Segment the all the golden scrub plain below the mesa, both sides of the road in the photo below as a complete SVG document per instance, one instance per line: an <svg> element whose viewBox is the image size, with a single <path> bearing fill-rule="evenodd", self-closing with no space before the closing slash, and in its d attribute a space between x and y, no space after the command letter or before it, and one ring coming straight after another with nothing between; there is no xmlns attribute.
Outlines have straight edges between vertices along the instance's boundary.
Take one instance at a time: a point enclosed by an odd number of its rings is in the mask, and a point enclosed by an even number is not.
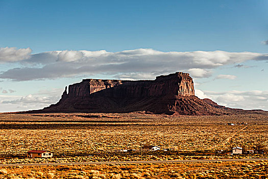
<svg viewBox="0 0 268 179"><path fill-rule="evenodd" d="M225 125L227 123L238 125ZM242 123L247 125L239 125ZM266 158L265 152L232 156L217 151L228 152L234 146L248 150L261 146L267 151L267 131L266 115L1 114L0 164ZM141 145L157 145L175 151L143 152L141 159ZM55 156L26 158L26 152L34 149L50 150ZM120 149L137 151L113 152ZM23 171L25 176L22 177L29 178L52 175L54 178L92 178L93 175L96 175L94 178L216 178L227 175L265 178L267 162L2 167L0 170L4 178L20 177L19 171Z"/></svg>

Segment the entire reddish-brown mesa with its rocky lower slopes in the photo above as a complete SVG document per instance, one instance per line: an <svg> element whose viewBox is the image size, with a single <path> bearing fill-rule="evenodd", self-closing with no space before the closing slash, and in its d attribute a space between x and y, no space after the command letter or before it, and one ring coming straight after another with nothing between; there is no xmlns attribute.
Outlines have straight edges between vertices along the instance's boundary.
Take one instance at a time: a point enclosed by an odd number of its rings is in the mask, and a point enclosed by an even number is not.
<svg viewBox="0 0 268 179"><path fill-rule="evenodd" d="M239 109L241 110L241 109ZM209 99L194 96L192 78L177 72L155 80L84 79L69 85L57 104L34 113L128 113L148 111L155 114L226 115L231 110ZM244 111L244 110L242 110Z"/></svg>

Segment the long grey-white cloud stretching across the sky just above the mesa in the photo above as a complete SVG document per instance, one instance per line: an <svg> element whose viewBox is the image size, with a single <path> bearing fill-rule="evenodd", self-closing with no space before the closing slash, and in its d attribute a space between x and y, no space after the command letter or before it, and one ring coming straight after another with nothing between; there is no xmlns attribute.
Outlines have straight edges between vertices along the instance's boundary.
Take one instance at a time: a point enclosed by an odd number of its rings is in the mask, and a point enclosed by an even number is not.
<svg viewBox="0 0 268 179"><path fill-rule="evenodd" d="M268 55L252 52L161 52L153 49L51 51L31 55L29 59L20 61L19 68L0 73L0 78L27 81L105 75L153 79L157 75L179 71L188 71L192 77L200 78L209 77L218 66L267 59Z"/></svg>

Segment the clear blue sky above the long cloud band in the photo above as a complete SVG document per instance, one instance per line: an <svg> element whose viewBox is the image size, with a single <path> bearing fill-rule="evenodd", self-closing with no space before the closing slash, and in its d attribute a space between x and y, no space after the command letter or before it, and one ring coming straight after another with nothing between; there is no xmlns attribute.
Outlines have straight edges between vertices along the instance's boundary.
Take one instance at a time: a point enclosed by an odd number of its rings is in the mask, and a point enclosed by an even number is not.
<svg viewBox="0 0 268 179"><path fill-rule="evenodd" d="M265 53L267 1L1 1L1 47Z"/></svg>

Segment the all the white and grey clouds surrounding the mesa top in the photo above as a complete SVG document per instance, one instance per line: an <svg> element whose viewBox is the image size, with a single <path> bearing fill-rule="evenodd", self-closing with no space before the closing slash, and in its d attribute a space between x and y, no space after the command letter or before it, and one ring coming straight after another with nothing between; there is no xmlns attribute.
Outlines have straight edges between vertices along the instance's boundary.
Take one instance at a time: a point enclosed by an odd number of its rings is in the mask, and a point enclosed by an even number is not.
<svg viewBox="0 0 268 179"><path fill-rule="evenodd" d="M30 48L0 48L0 71L3 81L31 81L104 75L114 79L154 79L158 75L178 71L188 72L193 78L207 78L214 70L225 65L233 68L254 68L241 64L248 60L268 61L268 54L252 52L195 51L161 52L153 49L135 49L121 52L101 51L50 51L31 54ZM12 65L9 65L12 63ZM10 66L16 68L10 68ZM9 67L9 69L7 68ZM264 71L264 69L263 69ZM235 79L220 74L214 79ZM196 83L197 85L197 83ZM17 90L17 89L16 89ZM56 103L63 89L38 92L26 96L12 96L13 89L0 87L0 108L4 111L40 109ZM53 94L52 94L53 93ZM267 108L267 91L228 91L215 93L196 89L200 98L210 98L221 105L244 109Z"/></svg>

